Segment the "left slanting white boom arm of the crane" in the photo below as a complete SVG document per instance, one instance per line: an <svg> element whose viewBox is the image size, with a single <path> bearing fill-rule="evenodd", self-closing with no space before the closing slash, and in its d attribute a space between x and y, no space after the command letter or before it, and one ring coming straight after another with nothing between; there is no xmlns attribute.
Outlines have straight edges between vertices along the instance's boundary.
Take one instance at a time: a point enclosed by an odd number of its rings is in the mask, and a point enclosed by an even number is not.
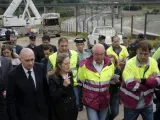
<svg viewBox="0 0 160 120"><path fill-rule="evenodd" d="M14 12L17 10L18 6L21 4L22 0L13 0L3 16L11 17L13 16Z"/></svg>

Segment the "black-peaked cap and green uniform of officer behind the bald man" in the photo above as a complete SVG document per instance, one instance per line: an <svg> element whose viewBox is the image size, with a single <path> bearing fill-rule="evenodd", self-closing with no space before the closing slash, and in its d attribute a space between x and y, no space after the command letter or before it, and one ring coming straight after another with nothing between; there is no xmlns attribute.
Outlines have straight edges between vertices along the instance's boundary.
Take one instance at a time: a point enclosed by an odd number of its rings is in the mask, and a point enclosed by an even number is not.
<svg viewBox="0 0 160 120"><path fill-rule="evenodd" d="M86 42L86 40L84 38L76 38L74 42L78 44L78 43L84 43ZM78 53L79 62L91 56L91 50L89 49L84 49L83 52L80 52L79 50L77 50L77 53ZM81 85L79 85L78 91L79 91L79 106L78 107L79 107L79 111L82 111L83 103L82 103L82 86Z"/></svg>

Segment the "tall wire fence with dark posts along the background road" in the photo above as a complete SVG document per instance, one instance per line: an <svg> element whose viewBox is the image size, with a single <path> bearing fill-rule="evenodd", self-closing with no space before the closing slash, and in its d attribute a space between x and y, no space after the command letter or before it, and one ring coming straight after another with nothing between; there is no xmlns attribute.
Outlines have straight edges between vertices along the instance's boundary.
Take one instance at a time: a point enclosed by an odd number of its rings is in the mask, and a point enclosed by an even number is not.
<svg viewBox="0 0 160 120"><path fill-rule="evenodd" d="M132 8L133 9L133 8ZM59 6L52 11L61 14L61 31L67 35L90 33L97 26L112 26L117 34L143 33L159 36L159 14L143 9L131 11L120 6Z"/></svg>

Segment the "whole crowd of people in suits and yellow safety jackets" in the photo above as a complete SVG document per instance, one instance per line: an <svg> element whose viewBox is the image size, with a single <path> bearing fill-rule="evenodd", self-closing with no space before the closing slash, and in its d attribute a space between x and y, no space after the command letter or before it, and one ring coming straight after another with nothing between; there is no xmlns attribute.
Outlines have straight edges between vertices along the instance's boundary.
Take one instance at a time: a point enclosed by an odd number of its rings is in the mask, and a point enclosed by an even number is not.
<svg viewBox="0 0 160 120"><path fill-rule="evenodd" d="M85 48L85 39L74 40L77 50L60 38L50 44L44 35L36 46L1 46L0 120L77 120L84 107L88 120L114 120L124 105L124 120L158 120L160 114L160 48L151 56L144 36L128 47L118 36L112 45L100 35L99 43ZM153 102L156 111L153 113Z"/></svg>

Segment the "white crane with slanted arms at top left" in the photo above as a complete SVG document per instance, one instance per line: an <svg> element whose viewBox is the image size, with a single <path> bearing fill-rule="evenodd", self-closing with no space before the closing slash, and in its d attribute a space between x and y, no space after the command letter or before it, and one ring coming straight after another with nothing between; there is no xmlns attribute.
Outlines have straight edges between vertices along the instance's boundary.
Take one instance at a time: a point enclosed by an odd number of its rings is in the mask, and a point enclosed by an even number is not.
<svg viewBox="0 0 160 120"><path fill-rule="evenodd" d="M22 27L26 25L40 25L41 15L32 0L24 0L25 9L22 15L14 16L15 11L23 0L13 0L3 15L0 16L0 25L3 27ZM35 17L31 17L29 8Z"/></svg>

